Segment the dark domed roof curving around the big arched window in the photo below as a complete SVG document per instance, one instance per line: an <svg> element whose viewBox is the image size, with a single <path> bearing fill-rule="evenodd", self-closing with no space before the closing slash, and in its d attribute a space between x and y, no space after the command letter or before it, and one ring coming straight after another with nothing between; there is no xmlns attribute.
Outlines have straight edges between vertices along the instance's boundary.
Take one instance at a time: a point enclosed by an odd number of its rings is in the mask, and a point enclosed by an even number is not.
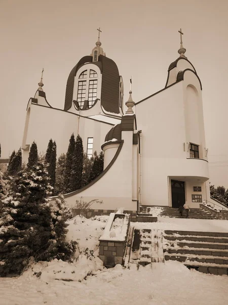
<svg viewBox="0 0 228 305"><path fill-rule="evenodd" d="M74 77L77 74L79 68L86 63L91 63L100 68L102 73L101 83L101 105L104 110L112 113L120 113L119 109L119 90L120 90L120 75L119 70L115 62L112 59L100 55L98 62L93 62L92 56L84 56L81 58L77 65L71 70L67 83L66 83L66 95L64 110L70 109L73 100L73 84Z"/></svg>

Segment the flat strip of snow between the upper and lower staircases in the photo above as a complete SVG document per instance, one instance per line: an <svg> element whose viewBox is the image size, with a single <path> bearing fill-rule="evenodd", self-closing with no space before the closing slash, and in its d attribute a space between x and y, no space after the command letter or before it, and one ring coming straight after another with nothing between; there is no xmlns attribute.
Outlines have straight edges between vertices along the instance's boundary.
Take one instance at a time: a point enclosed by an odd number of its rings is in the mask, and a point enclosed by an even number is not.
<svg viewBox="0 0 228 305"><path fill-rule="evenodd" d="M136 229L228 232L228 220L158 217L155 223L131 223Z"/></svg>

